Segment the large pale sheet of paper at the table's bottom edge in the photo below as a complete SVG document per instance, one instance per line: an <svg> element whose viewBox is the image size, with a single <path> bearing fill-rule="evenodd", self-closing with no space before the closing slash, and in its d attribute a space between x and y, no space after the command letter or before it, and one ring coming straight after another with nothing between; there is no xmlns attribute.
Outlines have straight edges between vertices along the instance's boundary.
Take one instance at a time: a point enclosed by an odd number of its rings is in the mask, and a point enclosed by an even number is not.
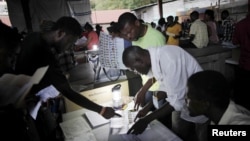
<svg viewBox="0 0 250 141"><path fill-rule="evenodd" d="M83 117L77 117L60 123L66 140L96 141L89 124Z"/></svg>

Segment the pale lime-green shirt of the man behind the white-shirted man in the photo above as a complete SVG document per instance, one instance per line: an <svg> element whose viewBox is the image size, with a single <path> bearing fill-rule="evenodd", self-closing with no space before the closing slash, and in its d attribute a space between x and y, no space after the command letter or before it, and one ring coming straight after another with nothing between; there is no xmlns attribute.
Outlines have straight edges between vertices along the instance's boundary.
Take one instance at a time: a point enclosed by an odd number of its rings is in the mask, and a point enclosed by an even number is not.
<svg viewBox="0 0 250 141"><path fill-rule="evenodd" d="M148 26L148 29L147 29L146 34L143 37L139 38L137 41L133 41L132 45L137 45L144 49L147 49L149 47L159 47L159 46L165 45L166 39L163 36L163 34L160 31L152 28L151 25L148 24L147 26ZM141 77L142 77L143 84L145 84L149 79L146 75L141 75ZM155 82L154 85L149 88L149 90L157 91L158 88L159 88L159 84L158 82Z"/></svg>

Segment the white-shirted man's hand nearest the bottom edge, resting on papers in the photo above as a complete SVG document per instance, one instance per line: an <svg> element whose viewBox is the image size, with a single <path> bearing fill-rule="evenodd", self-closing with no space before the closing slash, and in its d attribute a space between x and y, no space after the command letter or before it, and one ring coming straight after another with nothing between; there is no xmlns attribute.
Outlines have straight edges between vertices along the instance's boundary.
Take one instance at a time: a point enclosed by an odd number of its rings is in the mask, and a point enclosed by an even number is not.
<svg viewBox="0 0 250 141"><path fill-rule="evenodd" d="M148 122L145 118L139 119L127 132L127 134L141 134L147 128Z"/></svg>

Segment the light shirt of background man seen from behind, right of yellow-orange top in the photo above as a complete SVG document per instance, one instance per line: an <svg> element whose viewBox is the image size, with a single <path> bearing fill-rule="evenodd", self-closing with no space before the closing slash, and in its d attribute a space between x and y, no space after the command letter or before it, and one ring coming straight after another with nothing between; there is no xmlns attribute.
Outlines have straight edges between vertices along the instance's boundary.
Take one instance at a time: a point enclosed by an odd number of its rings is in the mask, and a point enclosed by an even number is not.
<svg viewBox="0 0 250 141"><path fill-rule="evenodd" d="M209 39L207 25L200 19L195 20L191 24L189 34L194 35L192 43L195 44L197 48L203 48L208 45Z"/></svg>

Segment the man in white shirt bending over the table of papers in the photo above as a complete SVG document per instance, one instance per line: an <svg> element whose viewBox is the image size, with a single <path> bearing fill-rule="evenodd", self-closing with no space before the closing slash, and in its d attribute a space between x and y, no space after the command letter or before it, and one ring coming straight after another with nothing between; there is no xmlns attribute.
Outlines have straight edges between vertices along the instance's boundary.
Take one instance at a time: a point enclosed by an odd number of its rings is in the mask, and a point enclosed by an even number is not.
<svg viewBox="0 0 250 141"><path fill-rule="evenodd" d="M172 130L183 140L196 140L190 138L190 135L194 135L193 122L204 123L207 118L190 117L185 108L187 79L193 73L202 71L195 58L182 48L173 45L148 49L131 46L123 52L123 63L133 71L155 77L160 84L158 93L167 94L167 102L159 109L144 117L139 112L136 118L140 119L129 129L128 133L140 134L148 123L173 112Z"/></svg>

